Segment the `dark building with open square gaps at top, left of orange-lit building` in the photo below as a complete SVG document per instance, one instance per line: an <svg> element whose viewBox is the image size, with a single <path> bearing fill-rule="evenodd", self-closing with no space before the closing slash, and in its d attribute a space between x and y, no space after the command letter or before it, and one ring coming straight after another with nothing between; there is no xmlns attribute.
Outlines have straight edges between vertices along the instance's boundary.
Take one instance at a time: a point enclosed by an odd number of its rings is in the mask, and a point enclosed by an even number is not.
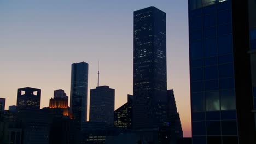
<svg viewBox="0 0 256 144"><path fill-rule="evenodd" d="M40 109L41 89L25 87L19 88L17 94L16 109L36 110Z"/></svg>

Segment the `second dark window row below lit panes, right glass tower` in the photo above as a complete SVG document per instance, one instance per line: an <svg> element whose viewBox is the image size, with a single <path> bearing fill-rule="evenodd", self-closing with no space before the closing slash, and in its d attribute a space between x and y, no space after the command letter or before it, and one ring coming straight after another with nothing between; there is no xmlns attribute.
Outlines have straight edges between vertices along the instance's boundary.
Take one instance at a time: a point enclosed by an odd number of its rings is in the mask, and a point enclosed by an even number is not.
<svg viewBox="0 0 256 144"><path fill-rule="evenodd" d="M237 135L236 121L212 121L212 122L193 122L192 134L194 135Z"/></svg>

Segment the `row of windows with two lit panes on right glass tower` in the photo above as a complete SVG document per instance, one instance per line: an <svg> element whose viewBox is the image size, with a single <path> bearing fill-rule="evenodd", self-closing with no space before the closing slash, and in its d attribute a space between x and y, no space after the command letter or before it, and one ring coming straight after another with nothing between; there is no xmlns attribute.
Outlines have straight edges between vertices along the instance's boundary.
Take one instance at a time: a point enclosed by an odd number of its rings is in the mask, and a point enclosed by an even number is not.
<svg viewBox="0 0 256 144"><path fill-rule="evenodd" d="M191 109L193 112L235 110L235 91L234 89L227 89L191 93Z"/></svg>

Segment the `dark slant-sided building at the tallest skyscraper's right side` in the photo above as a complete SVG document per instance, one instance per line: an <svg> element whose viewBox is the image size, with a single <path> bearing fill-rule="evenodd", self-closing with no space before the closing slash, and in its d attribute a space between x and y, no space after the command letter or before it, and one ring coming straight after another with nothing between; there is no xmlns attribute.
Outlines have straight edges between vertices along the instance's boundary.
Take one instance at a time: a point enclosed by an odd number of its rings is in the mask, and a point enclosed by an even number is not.
<svg viewBox="0 0 256 144"><path fill-rule="evenodd" d="M174 98L173 89L167 90L167 122L171 129L174 130L176 137L183 137L181 118L177 112L176 101Z"/></svg>

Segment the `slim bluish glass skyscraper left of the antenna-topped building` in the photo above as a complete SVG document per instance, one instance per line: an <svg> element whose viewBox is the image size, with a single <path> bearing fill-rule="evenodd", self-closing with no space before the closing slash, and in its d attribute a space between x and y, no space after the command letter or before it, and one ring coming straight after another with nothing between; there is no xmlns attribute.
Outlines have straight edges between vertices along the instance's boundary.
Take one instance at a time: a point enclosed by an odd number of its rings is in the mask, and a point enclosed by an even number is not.
<svg viewBox="0 0 256 144"><path fill-rule="evenodd" d="M73 63L71 71L70 106L77 127L87 119L88 63Z"/></svg>

